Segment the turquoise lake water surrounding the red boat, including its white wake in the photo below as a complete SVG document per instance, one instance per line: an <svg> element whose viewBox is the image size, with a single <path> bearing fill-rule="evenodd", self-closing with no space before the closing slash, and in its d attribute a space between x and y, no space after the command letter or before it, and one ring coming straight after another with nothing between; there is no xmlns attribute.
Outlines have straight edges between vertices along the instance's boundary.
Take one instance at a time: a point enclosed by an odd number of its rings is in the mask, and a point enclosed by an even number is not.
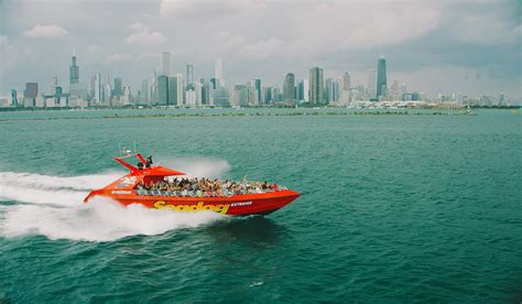
<svg viewBox="0 0 522 304"><path fill-rule="evenodd" d="M520 113L95 119L144 112L0 113L0 302L522 300ZM302 196L250 218L81 204L132 141Z"/></svg>

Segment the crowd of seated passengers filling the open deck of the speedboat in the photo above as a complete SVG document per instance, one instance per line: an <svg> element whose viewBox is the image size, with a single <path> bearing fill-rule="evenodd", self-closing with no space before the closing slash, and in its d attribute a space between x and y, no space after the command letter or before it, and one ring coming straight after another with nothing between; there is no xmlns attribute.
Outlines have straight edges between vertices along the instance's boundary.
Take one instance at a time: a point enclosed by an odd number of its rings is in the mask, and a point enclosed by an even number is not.
<svg viewBox="0 0 522 304"><path fill-rule="evenodd" d="M196 197L222 197L237 194L267 193L281 189L278 184L269 182L247 181L233 182L229 180L208 180L208 178L175 178L173 181L164 180L140 183L137 187L139 195L160 195L160 196L196 196Z"/></svg>

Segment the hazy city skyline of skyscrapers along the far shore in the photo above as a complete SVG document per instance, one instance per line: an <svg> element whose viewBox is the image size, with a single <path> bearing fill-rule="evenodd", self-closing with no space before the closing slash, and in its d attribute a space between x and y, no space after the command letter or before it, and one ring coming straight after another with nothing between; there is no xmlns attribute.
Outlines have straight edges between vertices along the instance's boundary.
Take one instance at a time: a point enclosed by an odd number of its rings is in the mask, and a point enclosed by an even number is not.
<svg viewBox="0 0 522 304"><path fill-rule="evenodd" d="M186 74L171 73L171 53L160 55L160 70L155 69L152 79L143 79L134 93L121 77L111 78L110 73L96 73L90 83L81 83L77 57L70 58L68 90L65 83L59 83L53 75L48 89L39 87L37 83L25 83L25 88L10 91L10 98L0 98L2 106L8 107L121 107L121 106L350 106L368 107L366 102L382 101L380 106L406 106L414 101L416 107L433 107L433 102L445 102L444 107L461 106L516 106L519 98L511 98L503 93L497 95L468 96L459 93L443 94L433 98L415 88L407 88L405 83L396 79L388 85L387 59L380 56L377 70L368 70L368 84L354 85L346 72L342 77L326 77L322 67L312 67L309 78L296 78L286 73L282 84L263 85L259 78L238 83L231 88L225 86L224 64L221 58L215 61L215 77L200 77L194 80L194 67L186 65ZM172 75L172 76L171 76ZM328 75L327 75L328 76ZM398 101L404 101L396 104ZM362 102L362 104L361 104ZM392 102L392 104L390 104ZM428 102L429 105L427 105ZM409 104L413 106L413 104Z"/></svg>

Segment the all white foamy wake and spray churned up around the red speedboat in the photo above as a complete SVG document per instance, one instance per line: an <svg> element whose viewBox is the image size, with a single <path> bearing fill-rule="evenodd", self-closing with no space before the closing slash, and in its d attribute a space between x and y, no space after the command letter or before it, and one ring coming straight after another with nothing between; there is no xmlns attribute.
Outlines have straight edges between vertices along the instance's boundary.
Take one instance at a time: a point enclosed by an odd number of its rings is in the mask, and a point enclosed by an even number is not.
<svg viewBox="0 0 522 304"><path fill-rule="evenodd" d="M228 163L205 160L187 163L196 176L219 176ZM199 170L198 170L199 169ZM123 172L70 177L0 172L0 237L42 235L48 239L113 241L135 235L160 235L224 219L208 213L176 213L143 207L123 207L108 198L83 199L91 188L102 187Z"/></svg>

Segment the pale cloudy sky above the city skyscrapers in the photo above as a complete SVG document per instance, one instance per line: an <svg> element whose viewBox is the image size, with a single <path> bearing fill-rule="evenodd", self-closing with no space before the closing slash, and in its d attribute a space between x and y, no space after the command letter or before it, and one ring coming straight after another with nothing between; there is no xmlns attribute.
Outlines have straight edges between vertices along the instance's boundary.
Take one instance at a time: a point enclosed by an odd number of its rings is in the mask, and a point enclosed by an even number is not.
<svg viewBox="0 0 522 304"><path fill-rule="evenodd" d="M389 85L520 97L521 19L520 0L0 0L0 95L48 90L53 75L68 87L73 51L80 82L100 72L135 90L171 51L174 72L205 78L221 57L228 84L322 66L366 86L384 55Z"/></svg>

